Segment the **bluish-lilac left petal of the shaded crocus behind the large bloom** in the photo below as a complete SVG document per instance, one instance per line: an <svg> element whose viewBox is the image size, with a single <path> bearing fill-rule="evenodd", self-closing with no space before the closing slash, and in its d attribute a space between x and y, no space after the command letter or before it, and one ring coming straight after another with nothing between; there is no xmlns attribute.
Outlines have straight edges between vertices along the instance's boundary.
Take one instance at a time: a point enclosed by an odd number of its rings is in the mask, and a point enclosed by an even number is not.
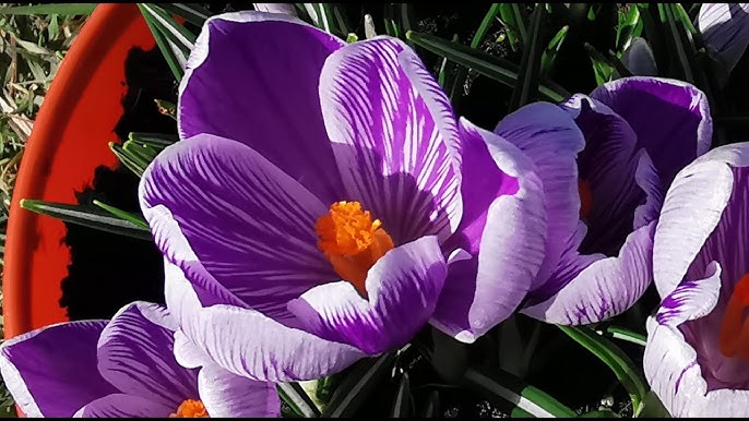
<svg viewBox="0 0 749 421"><path fill-rule="evenodd" d="M548 103L531 104L504 117L495 133L531 158L544 184L548 215L546 257L534 281L535 287L549 277L578 226L576 158L585 146L585 139L563 109Z"/></svg>

